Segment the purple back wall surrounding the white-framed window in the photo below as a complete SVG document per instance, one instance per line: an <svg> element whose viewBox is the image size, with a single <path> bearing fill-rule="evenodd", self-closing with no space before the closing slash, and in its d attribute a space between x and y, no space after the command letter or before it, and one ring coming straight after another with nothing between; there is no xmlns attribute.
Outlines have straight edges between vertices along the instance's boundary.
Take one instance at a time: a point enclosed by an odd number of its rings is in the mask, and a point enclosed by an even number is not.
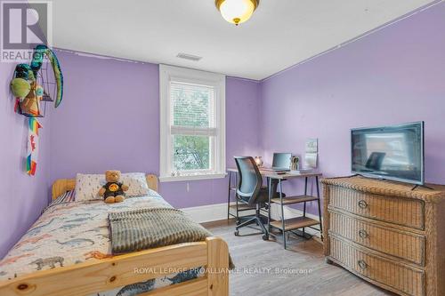
<svg viewBox="0 0 445 296"><path fill-rule="evenodd" d="M57 55L66 83L64 108L52 115L51 180L114 168L158 173L158 65L68 51ZM232 156L258 150L258 91L255 81L227 79L228 165ZM186 182L166 182L160 193L182 208L223 203L226 187L224 179L190 181L187 192Z"/></svg>

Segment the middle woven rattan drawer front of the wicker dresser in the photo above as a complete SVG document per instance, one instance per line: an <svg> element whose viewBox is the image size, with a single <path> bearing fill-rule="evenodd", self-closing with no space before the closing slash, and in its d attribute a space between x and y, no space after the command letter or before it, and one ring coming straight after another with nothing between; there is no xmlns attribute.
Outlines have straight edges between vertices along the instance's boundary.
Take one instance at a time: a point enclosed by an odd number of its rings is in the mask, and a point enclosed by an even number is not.
<svg viewBox="0 0 445 296"><path fill-rule="evenodd" d="M354 243L378 252L425 265L425 236L373 223L329 211L329 232L344 236Z"/></svg>

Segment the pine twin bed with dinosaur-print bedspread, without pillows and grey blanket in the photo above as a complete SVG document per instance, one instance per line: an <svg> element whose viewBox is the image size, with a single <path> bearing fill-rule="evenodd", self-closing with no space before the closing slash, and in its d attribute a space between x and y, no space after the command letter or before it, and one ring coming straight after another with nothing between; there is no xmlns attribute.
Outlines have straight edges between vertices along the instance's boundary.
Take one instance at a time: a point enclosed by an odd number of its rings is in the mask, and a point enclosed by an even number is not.
<svg viewBox="0 0 445 296"><path fill-rule="evenodd" d="M62 202L49 206L0 261L0 295L217 295L229 294L227 244L206 240L112 255L109 212L171 208L147 175L146 196L124 203ZM56 180L53 199L76 180Z"/></svg>

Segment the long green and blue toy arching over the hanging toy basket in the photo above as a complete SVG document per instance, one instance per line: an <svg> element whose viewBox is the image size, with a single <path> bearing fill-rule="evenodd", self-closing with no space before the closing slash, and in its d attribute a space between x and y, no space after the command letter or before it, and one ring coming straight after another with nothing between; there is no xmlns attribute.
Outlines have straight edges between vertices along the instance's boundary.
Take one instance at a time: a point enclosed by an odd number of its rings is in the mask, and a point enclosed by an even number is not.
<svg viewBox="0 0 445 296"><path fill-rule="evenodd" d="M61 64L59 63L59 60L57 60L54 52L44 44L37 45L34 49L31 69L34 76L37 76L37 72L42 68L44 55L50 60L51 66L53 67L54 77L57 84L57 95L54 106L57 108L61 104L63 97L63 75L61 74Z"/></svg>

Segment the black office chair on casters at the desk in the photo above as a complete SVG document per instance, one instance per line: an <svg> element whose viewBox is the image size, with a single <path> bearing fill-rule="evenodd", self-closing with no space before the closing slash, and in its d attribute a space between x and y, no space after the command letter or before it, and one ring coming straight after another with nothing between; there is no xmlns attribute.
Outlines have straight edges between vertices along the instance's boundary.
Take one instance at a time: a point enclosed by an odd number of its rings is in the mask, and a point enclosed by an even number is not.
<svg viewBox="0 0 445 296"><path fill-rule="evenodd" d="M261 176L258 167L255 164L255 160L250 156L235 156L235 163L238 168L238 185L237 185L237 198L239 202L248 204L250 206L255 205L255 215L243 217L246 221L237 225L235 230L235 236L239 236L239 228L243 228L247 225L255 223L260 226L263 232L263 239L268 239L268 231L263 225L261 220L260 210L269 206L269 195L267 188L263 188L263 178Z"/></svg>

